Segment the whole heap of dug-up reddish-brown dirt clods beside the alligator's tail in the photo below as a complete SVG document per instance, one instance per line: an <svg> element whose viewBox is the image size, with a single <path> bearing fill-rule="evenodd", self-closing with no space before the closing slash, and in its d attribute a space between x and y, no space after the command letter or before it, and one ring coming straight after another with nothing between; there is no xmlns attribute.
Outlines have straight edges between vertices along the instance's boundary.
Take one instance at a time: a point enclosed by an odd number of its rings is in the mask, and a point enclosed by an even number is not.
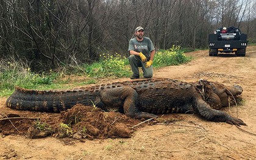
<svg viewBox="0 0 256 160"><path fill-rule="evenodd" d="M51 135L75 139L106 139L131 137L137 128L133 126L141 122L121 113L106 113L100 108L81 104L61 114L41 113L37 118L26 117L25 113L2 115L0 132L5 135L23 134L30 138Z"/></svg>

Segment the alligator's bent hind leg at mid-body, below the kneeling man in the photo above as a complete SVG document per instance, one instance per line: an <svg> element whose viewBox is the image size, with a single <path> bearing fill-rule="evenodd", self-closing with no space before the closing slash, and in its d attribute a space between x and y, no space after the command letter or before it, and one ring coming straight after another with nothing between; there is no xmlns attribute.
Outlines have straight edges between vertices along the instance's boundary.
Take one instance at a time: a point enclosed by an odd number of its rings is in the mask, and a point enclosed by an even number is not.
<svg viewBox="0 0 256 160"><path fill-rule="evenodd" d="M144 113L138 110L138 93L130 86L121 86L101 91L101 101L108 108L122 107L124 114L135 119L157 118L155 114Z"/></svg>

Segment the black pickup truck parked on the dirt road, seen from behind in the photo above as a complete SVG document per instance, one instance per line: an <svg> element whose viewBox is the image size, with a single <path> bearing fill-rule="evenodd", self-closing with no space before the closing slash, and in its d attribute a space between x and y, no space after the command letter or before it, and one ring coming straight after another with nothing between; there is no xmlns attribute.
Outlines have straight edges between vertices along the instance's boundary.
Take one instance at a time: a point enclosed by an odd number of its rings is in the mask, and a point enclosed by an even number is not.
<svg viewBox="0 0 256 160"><path fill-rule="evenodd" d="M226 32L223 32L226 30ZM236 56L245 56L247 47L247 35L241 33L236 27L221 27L215 30L215 33L209 35L209 55L217 56L218 52L233 53Z"/></svg>

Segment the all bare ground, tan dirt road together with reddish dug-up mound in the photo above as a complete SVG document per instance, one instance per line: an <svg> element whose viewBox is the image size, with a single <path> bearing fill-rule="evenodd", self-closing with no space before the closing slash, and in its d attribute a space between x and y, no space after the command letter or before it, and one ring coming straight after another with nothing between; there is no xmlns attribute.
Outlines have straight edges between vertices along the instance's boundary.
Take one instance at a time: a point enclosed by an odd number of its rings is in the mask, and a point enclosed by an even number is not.
<svg viewBox="0 0 256 160"><path fill-rule="evenodd" d="M243 104L222 110L247 126L208 122L193 114L166 114L164 123L140 124L82 105L61 114L16 111L5 107L5 97L0 99L0 118L20 119L0 120L0 159L256 159L255 50L247 47L246 57L191 52L195 59L190 63L154 73L184 82L207 79L242 86Z"/></svg>

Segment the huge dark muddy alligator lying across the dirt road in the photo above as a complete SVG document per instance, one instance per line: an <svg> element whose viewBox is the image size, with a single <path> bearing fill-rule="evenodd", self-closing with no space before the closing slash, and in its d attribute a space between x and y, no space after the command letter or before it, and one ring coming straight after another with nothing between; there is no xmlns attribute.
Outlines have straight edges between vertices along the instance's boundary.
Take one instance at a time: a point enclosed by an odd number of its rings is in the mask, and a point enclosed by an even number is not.
<svg viewBox="0 0 256 160"><path fill-rule="evenodd" d="M152 78L65 91L16 87L6 105L16 110L60 112L82 103L104 111L116 110L136 119L157 118L157 114L196 113L210 121L246 125L243 120L219 110L235 102L242 92L241 86L225 86L207 80L187 83L169 78Z"/></svg>

